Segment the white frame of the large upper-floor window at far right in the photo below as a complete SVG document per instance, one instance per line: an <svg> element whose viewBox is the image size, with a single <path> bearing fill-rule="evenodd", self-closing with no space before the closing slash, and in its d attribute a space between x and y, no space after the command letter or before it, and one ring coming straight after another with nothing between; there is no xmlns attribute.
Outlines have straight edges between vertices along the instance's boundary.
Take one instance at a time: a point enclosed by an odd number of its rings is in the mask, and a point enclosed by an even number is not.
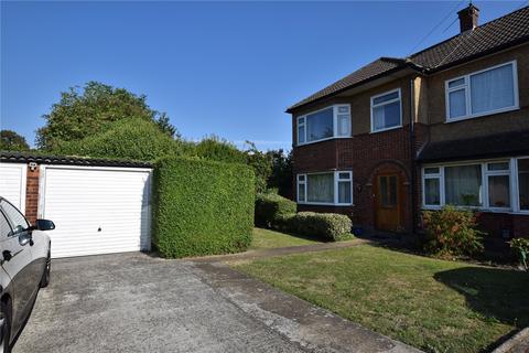
<svg viewBox="0 0 529 353"><path fill-rule="evenodd" d="M504 108L499 108L499 109L494 109L494 110L473 114L472 113L472 100L471 100L471 97L472 97L471 76L474 76L474 75L477 75L477 74L490 71L490 69L495 69L495 68L498 68L498 67L501 67L501 66L507 66L507 65L512 65L512 85L514 85L512 88L514 88L514 94L515 94L515 97L514 97L515 98L515 104L510 107L504 107ZM457 81L457 79L461 79L461 78L464 79L464 84L462 86L449 88L449 84L451 82L454 82L454 81ZM450 117L450 93L452 93L454 90L460 90L460 89L465 90L466 114L464 116L461 116L461 117L451 118ZM445 114L446 115L446 121L445 122L454 122L454 121L460 121L460 120L484 117L484 116L488 116L488 115L493 115L493 114L517 110L517 109L519 109L517 61L514 60L514 61L510 61L510 62L507 62L507 63L490 66L490 67L487 67L487 68L484 68L484 69L481 69L481 71L476 71L476 72L473 72L473 73L469 73L469 74L466 74L466 75L463 75L463 76L458 76L458 77L447 79L447 81L444 82L444 97L445 97L445 113L446 113Z"/></svg>

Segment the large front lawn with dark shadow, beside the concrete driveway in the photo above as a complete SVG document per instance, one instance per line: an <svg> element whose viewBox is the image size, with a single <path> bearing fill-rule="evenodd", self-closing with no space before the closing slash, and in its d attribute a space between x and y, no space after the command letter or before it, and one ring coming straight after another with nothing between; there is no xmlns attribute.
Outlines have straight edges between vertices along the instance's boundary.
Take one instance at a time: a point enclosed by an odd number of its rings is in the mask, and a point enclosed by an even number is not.
<svg viewBox="0 0 529 353"><path fill-rule="evenodd" d="M529 325L529 274L369 245L234 265L427 352L487 352Z"/></svg>

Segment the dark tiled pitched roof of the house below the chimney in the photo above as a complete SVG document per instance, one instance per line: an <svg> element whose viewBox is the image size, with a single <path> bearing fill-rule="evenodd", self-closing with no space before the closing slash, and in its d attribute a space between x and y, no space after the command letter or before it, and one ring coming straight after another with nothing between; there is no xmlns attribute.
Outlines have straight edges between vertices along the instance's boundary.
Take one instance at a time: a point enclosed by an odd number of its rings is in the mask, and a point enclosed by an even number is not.
<svg viewBox="0 0 529 353"><path fill-rule="evenodd" d="M529 42L529 7L460 33L407 58L380 57L287 109L337 94L403 67L433 73L452 65Z"/></svg>

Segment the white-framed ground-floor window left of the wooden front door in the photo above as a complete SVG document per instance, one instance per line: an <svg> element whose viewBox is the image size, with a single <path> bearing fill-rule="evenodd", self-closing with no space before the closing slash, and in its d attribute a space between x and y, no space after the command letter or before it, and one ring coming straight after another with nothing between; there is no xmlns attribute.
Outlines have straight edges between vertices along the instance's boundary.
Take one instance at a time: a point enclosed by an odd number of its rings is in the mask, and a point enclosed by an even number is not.
<svg viewBox="0 0 529 353"><path fill-rule="evenodd" d="M353 172L298 174L298 203L353 204Z"/></svg>

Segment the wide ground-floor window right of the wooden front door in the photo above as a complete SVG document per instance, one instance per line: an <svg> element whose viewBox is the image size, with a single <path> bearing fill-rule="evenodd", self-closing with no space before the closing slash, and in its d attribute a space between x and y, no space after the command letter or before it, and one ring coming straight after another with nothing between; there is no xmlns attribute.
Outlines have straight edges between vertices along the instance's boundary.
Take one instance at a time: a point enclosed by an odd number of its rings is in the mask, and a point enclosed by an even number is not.
<svg viewBox="0 0 529 353"><path fill-rule="evenodd" d="M427 165L422 195L424 207L529 211L529 158Z"/></svg>

